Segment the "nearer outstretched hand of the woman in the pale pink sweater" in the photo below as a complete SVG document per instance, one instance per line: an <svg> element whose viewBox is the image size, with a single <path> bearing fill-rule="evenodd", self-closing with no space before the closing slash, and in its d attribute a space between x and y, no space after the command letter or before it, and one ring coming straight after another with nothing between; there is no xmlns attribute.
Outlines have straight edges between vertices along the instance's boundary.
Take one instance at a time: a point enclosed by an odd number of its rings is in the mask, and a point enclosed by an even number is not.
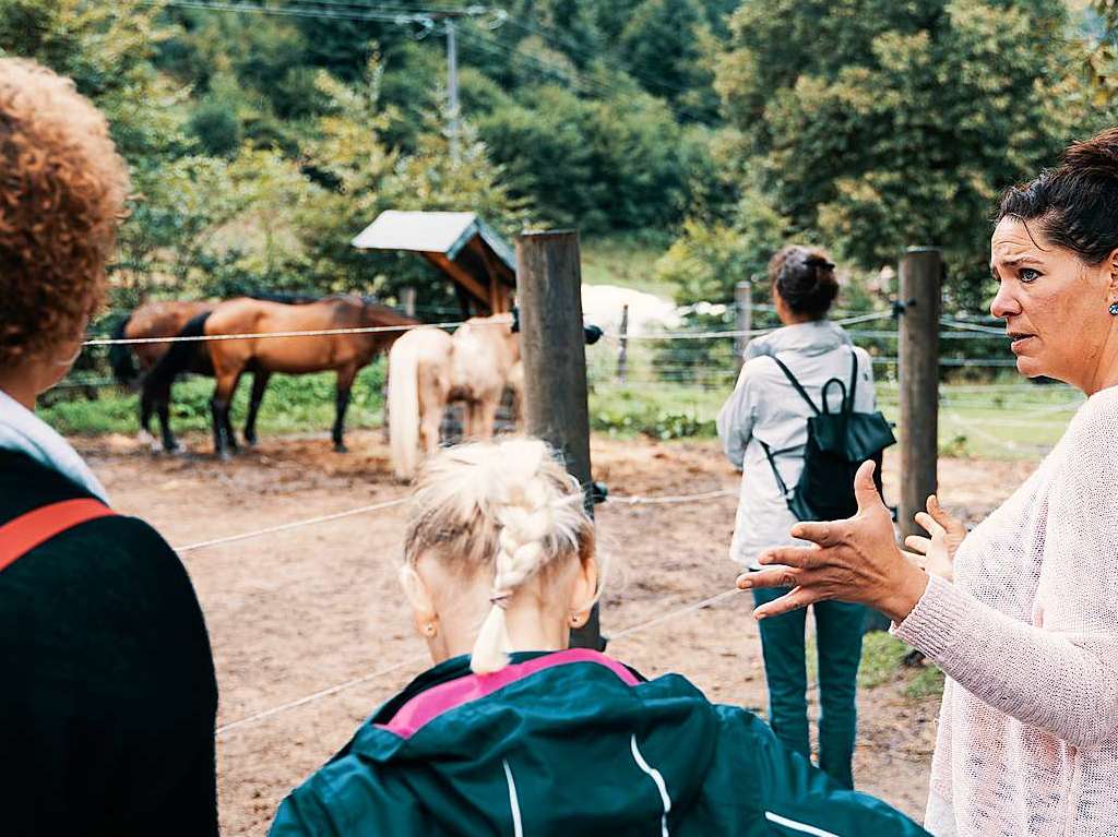
<svg viewBox="0 0 1118 837"><path fill-rule="evenodd" d="M743 573L742 590L790 587L786 596L754 611L754 618L786 614L816 601L841 599L880 610L901 621L923 596L928 574L897 546L893 522L873 484L873 463L863 463L854 477L858 513L843 521L797 523L792 536L812 546L767 550L758 561L779 569Z"/></svg>

